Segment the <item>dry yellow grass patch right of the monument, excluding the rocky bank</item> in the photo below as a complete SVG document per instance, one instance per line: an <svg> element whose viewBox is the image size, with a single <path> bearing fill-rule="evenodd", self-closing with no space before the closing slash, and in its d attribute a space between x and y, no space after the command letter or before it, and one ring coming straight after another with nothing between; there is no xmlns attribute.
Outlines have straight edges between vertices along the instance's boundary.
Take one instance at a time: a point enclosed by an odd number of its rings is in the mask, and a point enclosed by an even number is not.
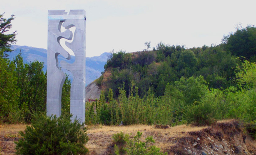
<svg viewBox="0 0 256 155"><path fill-rule="evenodd" d="M200 131L205 127L192 127L186 125L169 127L167 129L155 129L154 126L132 125L132 126L88 126L87 134L89 141L86 147L93 154L102 154L112 143L112 135L123 131L124 134L134 136L137 131L142 132L142 140L148 136L153 136L155 145L161 149L168 148L173 145L170 139L176 139L186 135L186 132Z"/></svg>

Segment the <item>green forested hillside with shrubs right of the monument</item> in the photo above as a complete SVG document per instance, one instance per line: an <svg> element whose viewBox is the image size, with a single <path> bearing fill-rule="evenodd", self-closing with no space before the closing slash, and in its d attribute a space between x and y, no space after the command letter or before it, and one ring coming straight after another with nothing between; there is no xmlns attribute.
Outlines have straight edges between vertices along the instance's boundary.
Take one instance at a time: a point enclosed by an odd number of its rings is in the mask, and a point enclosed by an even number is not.
<svg viewBox="0 0 256 155"><path fill-rule="evenodd" d="M112 53L96 81L100 100L87 104L88 124L255 121L254 26L224 36L219 45L187 49L160 42L153 49Z"/></svg>

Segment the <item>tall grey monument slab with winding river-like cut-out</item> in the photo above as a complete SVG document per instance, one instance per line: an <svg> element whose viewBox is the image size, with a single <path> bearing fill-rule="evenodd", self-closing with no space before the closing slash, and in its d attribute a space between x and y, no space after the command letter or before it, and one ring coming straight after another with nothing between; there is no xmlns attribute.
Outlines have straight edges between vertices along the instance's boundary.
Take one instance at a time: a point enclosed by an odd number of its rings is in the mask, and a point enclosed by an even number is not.
<svg viewBox="0 0 256 155"><path fill-rule="evenodd" d="M85 121L85 29L84 10L48 11L47 116L61 115L61 92L66 69L72 73L70 113ZM59 62L62 55L66 61Z"/></svg>

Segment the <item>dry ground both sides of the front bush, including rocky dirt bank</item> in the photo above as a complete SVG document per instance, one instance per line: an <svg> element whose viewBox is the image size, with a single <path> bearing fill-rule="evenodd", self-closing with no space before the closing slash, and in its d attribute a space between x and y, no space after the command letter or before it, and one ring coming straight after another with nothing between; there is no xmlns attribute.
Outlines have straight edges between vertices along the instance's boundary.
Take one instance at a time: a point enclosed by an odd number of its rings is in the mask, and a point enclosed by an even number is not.
<svg viewBox="0 0 256 155"><path fill-rule="evenodd" d="M20 138L18 131L25 130L26 125L0 125L0 148L1 155L15 154L16 144ZM90 155L103 155L113 152L112 135L123 131L136 135L137 131L142 132L142 141L153 136L155 145L168 154L175 155L201 155L218 154L256 154L256 142L248 135L244 135L239 122L234 120L219 121L213 126L193 127L174 126L163 129L157 126L132 125L132 126L88 126L89 141L85 145Z"/></svg>

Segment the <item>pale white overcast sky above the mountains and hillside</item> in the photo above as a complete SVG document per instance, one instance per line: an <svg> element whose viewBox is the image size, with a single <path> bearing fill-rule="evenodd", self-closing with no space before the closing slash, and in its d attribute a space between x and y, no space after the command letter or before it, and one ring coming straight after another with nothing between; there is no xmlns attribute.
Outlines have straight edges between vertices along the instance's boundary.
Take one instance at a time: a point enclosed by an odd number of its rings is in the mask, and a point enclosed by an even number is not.
<svg viewBox="0 0 256 155"><path fill-rule="evenodd" d="M160 41L187 48L221 43L241 23L256 25L256 1L225 0L3 0L0 14L15 15L17 45L47 49L47 10L87 12L86 56L142 51ZM151 48L152 49L152 48Z"/></svg>

